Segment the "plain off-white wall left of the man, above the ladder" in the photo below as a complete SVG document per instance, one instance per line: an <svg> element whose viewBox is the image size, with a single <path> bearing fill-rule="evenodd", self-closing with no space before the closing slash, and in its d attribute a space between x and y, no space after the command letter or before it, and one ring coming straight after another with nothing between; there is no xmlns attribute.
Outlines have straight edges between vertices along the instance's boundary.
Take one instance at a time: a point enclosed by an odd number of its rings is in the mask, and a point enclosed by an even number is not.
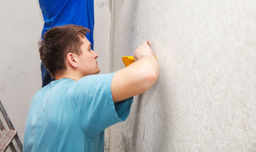
<svg viewBox="0 0 256 152"><path fill-rule="evenodd" d="M30 101L41 88L38 2L3 0L0 20L0 100L23 141Z"/></svg>

